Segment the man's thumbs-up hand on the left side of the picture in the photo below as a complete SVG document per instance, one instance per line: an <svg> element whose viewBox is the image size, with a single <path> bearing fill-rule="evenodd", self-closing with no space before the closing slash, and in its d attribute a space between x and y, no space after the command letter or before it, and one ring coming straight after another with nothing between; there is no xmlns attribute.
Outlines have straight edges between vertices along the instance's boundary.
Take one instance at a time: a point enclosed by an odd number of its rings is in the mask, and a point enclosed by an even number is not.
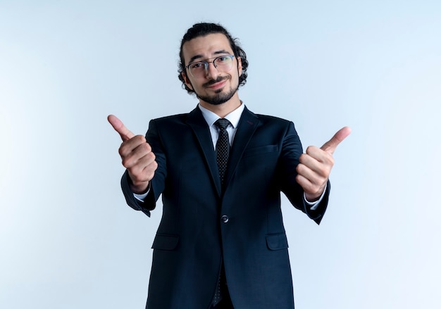
<svg viewBox="0 0 441 309"><path fill-rule="evenodd" d="M119 153L123 166L127 168L132 184L133 193L143 194L149 187L149 181L154 177L158 163L151 152L151 146L143 135L135 135L114 115L108 115L108 122L123 139Z"/></svg>

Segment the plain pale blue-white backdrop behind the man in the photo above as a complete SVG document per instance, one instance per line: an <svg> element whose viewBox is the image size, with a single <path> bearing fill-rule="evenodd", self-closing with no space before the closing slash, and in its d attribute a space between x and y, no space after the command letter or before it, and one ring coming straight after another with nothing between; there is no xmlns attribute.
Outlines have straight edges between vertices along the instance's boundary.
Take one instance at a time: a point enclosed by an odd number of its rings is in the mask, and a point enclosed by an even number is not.
<svg viewBox="0 0 441 309"><path fill-rule="evenodd" d="M296 308L440 308L438 0L0 0L0 307L144 308L162 208L125 205L106 116L144 134L196 106L199 21L240 38L241 99L304 148L352 127L322 224L283 199Z"/></svg>

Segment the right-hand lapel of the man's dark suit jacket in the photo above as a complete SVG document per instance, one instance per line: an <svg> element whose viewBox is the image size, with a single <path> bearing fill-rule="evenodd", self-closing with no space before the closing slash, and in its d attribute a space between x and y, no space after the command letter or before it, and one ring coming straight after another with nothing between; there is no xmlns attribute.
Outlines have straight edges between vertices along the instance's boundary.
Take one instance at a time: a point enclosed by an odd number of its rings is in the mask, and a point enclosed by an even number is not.
<svg viewBox="0 0 441 309"><path fill-rule="evenodd" d="M235 139L232 142L230 158L228 159L228 168L225 175L225 187L228 186L232 175L235 174L237 163L239 163L240 158L242 158L242 154L247 148L249 140L253 136L258 125L259 118L245 107L242 116L240 117L239 124L237 125Z"/></svg>

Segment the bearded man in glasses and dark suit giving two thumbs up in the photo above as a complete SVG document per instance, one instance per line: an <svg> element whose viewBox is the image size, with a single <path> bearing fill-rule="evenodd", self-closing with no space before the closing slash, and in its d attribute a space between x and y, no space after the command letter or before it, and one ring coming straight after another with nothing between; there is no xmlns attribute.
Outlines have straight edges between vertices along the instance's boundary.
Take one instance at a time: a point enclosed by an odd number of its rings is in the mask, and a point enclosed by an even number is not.
<svg viewBox="0 0 441 309"><path fill-rule="evenodd" d="M151 120L145 138L108 116L128 205L150 215L162 194L147 308L292 309L280 192L320 223L332 154L350 130L303 153L292 122L251 113L237 92L247 56L221 25L193 25L180 60L197 108Z"/></svg>

